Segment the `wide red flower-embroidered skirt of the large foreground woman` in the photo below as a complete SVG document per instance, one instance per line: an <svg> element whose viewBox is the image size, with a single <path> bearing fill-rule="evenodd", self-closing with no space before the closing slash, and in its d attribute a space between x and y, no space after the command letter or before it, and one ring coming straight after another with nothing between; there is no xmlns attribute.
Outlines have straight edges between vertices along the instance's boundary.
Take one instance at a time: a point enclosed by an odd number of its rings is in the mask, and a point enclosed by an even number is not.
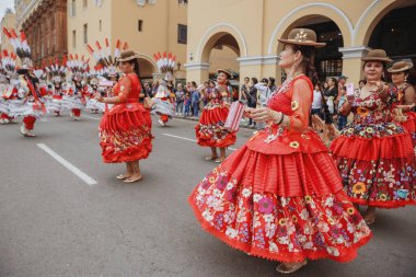
<svg viewBox="0 0 416 277"><path fill-rule="evenodd" d="M201 227L232 247L275 261L356 257L371 231L317 135L270 154L259 147L265 136L232 153L194 189L188 200Z"/></svg>

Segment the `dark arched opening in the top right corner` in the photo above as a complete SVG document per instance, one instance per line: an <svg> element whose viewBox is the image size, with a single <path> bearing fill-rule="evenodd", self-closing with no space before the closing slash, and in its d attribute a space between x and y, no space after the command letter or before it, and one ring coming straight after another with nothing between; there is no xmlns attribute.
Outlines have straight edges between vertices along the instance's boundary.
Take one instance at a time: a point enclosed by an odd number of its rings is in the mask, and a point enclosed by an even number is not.
<svg viewBox="0 0 416 277"><path fill-rule="evenodd" d="M393 60L408 60L416 65L416 3L406 1L388 12L369 30L368 46L384 49ZM416 70L411 70L411 83L416 83Z"/></svg>

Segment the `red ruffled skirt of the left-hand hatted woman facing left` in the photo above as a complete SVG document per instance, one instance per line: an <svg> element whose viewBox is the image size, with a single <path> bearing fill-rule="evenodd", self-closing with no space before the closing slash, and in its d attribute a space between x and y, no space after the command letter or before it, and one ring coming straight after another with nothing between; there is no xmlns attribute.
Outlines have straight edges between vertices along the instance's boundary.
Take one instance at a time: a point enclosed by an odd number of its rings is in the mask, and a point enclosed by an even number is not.
<svg viewBox="0 0 416 277"><path fill-rule="evenodd" d="M152 151L151 117L140 103L117 104L100 123L103 160L106 163L131 162Z"/></svg>

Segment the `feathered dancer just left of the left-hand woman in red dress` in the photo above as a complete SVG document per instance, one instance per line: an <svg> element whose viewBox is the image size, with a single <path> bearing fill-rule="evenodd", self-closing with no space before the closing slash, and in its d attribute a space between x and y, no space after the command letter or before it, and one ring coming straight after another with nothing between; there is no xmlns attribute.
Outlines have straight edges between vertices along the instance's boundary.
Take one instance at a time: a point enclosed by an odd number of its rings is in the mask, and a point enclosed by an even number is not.
<svg viewBox="0 0 416 277"><path fill-rule="evenodd" d="M67 61L67 67L72 73L72 85L67 90L65 101L70 116L77 122L80 120L81 109L86 105L88 88L83 83L83 78L89 71L89 61L90 59L84 60L84 56L80 59L78 55L69 55Z"/></svg>

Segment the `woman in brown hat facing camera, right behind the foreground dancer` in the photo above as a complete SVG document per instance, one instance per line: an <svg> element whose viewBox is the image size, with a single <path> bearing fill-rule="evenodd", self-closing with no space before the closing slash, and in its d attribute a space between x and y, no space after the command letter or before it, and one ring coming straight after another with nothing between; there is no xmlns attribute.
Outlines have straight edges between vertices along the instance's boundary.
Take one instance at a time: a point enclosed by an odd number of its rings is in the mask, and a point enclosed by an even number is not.
<svg viewBox="0 0 416 277"><path fill-rule="evenodd" d="M375 220L377 208L397 208L416 204L416 172L411 136L393 122L393 88L382 81L391 59L382 49L370 50L362 58L367 84L348 97L340 113L354 113L331 145L349 199L368 206L365 219Z"/></svg>

